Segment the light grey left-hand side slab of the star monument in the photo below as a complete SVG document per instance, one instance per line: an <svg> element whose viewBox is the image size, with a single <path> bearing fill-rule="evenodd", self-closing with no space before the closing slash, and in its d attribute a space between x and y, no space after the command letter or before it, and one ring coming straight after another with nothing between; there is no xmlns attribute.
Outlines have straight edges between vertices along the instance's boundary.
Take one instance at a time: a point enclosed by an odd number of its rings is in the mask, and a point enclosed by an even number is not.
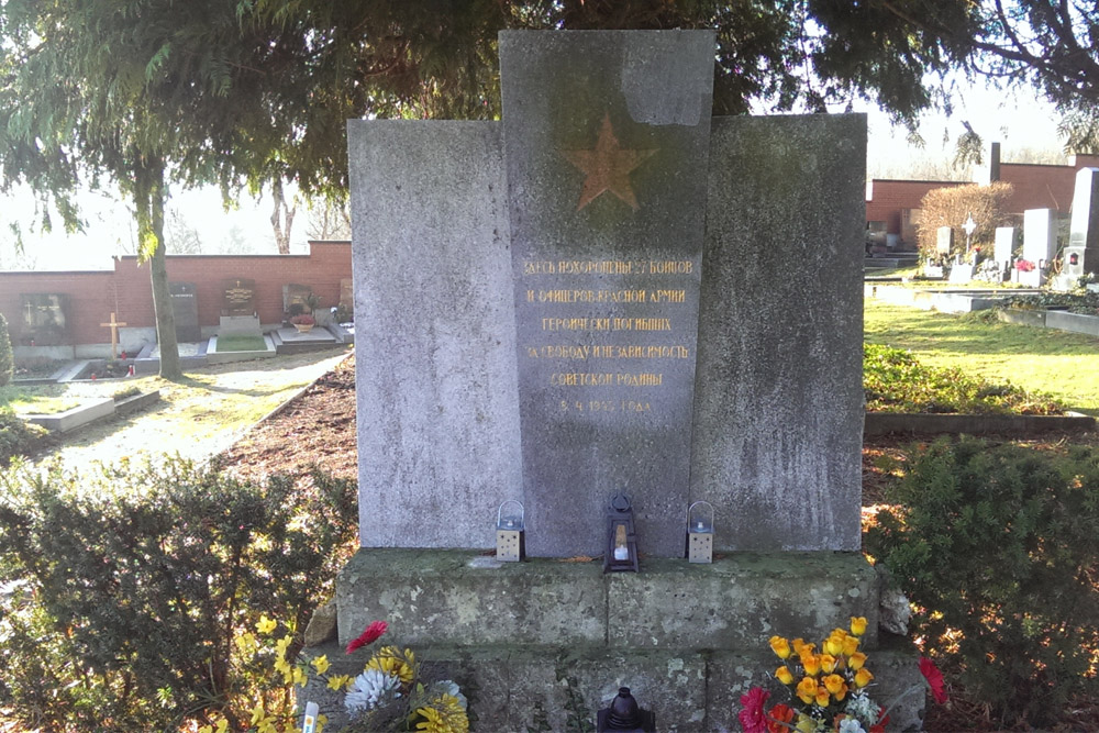
<svg viewBox="0 0 1099 733"><path fill-rule="evenodd" d="M491 547L522 499L500 125L348 123L365 547Z"/></svg>

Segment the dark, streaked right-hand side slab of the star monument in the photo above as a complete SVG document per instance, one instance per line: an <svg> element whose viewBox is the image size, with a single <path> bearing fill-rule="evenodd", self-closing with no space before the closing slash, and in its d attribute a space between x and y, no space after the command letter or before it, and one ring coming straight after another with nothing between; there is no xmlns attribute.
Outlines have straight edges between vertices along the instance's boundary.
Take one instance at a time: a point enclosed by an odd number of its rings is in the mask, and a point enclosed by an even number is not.
<svg viewBox="0 0 1099 733"><path fill-rule="evenodd" d="M864 115L717 118L690 499L721 549L857 549Z"/></svg>

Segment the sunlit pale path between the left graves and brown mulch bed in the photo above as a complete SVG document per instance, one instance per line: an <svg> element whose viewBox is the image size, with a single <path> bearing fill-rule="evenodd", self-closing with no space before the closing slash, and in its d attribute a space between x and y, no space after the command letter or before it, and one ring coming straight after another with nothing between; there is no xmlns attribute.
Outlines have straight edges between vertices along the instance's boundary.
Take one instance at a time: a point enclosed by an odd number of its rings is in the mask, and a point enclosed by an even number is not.
<svg viewBox="0 0 1099 733"><path fill-rule="evenodd" d="M342 351L313 352L219 365L178 382L157 380L162 401L156 407L86 427L40 460L56 457L68 468L165 453L206 460L345 358Z"/></svg>

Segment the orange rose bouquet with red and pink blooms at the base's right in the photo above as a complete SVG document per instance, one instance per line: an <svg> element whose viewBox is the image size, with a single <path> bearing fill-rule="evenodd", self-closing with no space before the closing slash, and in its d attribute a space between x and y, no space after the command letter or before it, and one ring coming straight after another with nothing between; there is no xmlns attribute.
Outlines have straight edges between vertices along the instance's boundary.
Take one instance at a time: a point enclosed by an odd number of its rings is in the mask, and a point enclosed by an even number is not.
<svg viewBox="0 0 1099 733"><path fill-rule="evenodd" d="M850 629L834 629L820 648L802 638L770 637L770 648L782 660L775 678L790 690L790 702L766 709L770 692L753 687L741 697L744 733L885 733L889 711L867 692L874 675L859 651L866 619L852 617ZM920 671L937 702L946 699L942 675L930 659L920 660ZM915 687L906 690L903 698ZM898 698L900 699L900 698Z"/></svg>

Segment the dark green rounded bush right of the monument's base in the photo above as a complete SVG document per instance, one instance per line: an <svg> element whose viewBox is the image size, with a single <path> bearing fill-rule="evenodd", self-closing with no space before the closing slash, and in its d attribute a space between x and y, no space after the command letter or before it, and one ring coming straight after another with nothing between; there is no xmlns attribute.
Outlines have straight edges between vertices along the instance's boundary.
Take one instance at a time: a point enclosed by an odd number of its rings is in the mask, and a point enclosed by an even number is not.
<svg viewBox="0 0 1099 733"><path fill-rule="evenodd" d="M914 633L1006 725L1099 692L1099 449L944 438L910 463L864 546L918 608Z"/></svg>

